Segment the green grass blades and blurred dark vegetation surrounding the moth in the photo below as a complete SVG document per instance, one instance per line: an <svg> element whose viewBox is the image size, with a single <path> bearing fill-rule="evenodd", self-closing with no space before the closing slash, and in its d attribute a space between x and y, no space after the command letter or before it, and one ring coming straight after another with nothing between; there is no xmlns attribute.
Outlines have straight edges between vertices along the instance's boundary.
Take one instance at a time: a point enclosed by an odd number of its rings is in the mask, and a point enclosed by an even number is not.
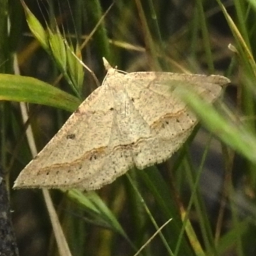
<svg viewBox="0 0 256 256"><path fill-rule="evenodd" d="M20 255L60 255L40 189L12 189L32 157L26 128L41 150L104 78L102 56L127 72L222 74L232 84L216 106L181 92L202 122L163 164L95 192L51 191L72 255L136 255L143 245L139 255L255 255L252 0L0 4L1 166ZM25 124L19 102L29 102Z"/></svg>

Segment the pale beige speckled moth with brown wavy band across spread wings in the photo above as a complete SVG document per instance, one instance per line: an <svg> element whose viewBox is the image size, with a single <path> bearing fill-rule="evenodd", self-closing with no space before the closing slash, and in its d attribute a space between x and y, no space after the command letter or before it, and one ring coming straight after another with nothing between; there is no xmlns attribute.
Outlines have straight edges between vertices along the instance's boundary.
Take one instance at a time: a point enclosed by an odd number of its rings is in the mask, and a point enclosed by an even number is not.
<svg viewBox="0 0 256 256"><path fill-rule="evenodd" d="M132 167L172 156L196 116L177 96L189 86L213 102L229 83L223 76L119 72L108 65L92 92L15 180L14 188L99 189Z"/></svg>

